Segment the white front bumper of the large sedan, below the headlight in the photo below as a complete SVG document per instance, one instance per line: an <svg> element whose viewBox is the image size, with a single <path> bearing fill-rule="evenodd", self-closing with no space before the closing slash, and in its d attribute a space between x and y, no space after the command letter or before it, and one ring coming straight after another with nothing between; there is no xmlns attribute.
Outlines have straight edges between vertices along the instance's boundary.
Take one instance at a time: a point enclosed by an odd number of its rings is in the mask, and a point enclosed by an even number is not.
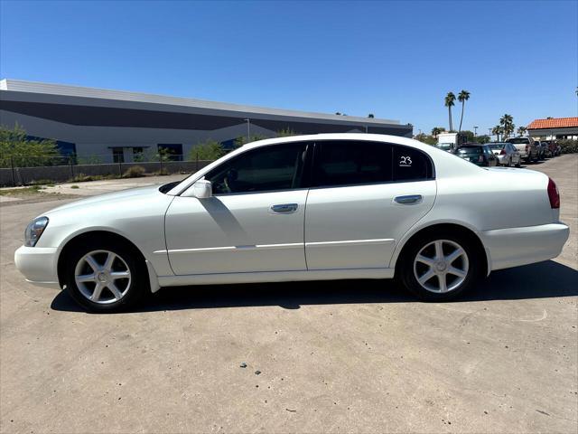
<svg viewBox="0 0 578 434"><path fill-rule="evenodd" d="M58 281L58 249L22 246L14 252L14 263L27 282L40 287L61 288Z"/></svg>

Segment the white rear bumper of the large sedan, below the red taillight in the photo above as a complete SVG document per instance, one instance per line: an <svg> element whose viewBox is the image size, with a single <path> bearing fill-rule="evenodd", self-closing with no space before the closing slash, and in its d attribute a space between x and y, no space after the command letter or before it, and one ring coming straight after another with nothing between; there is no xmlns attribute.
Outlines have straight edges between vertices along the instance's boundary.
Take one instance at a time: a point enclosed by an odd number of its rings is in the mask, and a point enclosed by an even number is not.
<svg viewBox="0 0 578 434"><path fill-rule="evenodd" d="M553 259L560 254L570 230L564 223L480 232L490 267L508 269Z"/></svg>

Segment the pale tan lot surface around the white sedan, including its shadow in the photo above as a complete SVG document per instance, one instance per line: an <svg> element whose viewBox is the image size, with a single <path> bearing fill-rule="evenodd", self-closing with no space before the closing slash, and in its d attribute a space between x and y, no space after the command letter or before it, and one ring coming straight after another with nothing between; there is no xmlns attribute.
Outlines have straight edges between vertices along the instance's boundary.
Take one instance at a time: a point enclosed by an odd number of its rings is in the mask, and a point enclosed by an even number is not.
<svg viewBox="0 0 578 434"><path fill-rule="evenodd" d="M0 431L575 433L578 156L530 168L562 193L563 254L446 304L354 280L172 288L89 315L14 269L23 225L56 203L5 202Z"/></svg>

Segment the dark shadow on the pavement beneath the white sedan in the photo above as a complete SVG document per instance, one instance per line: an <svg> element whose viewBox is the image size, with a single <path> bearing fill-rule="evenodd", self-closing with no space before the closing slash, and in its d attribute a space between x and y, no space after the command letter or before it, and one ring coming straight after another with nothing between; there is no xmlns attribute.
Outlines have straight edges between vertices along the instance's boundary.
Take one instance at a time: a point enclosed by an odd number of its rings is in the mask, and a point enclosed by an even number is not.
<svg viewBox="0 0 578 434"><path fill-rule="evenodd" d="M553 260L494 271L458 302L571 297L578 295L578 271ZM352 279L313 282L283 282L238 285L201 285L163 288L132 312L154 312L214 307L279 306L298 309L303 305L418 302L394 280ZM80 312L61 291L51 308Z"/></svg>

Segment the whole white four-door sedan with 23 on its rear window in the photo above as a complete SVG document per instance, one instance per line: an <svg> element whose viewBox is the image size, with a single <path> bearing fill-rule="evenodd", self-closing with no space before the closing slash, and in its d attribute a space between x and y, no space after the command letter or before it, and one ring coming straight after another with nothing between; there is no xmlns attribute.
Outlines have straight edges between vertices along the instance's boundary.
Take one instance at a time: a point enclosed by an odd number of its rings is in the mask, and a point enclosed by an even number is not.
<svg viewBox="0 0 578 434"><path fill-rule="evenodd" d="M472 165L413 139L325 134L238 148L180 183L34 219L16 267L113 311L162 287L398 278L448 300L568 239L554 182Z"/></svg>

